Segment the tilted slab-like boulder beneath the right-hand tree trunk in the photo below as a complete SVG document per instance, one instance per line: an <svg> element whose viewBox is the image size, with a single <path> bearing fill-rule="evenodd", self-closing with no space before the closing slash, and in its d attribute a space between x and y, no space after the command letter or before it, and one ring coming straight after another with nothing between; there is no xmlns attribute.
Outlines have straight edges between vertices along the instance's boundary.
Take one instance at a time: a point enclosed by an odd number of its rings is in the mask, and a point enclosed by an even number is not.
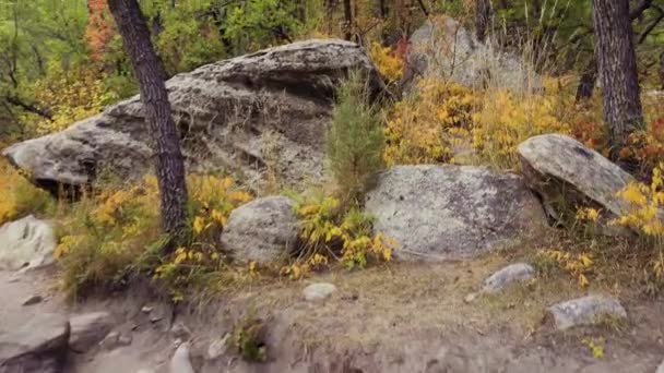
<svg viewBox="0 0 664 373"><path fill-rule="evenodd" d="M542 195L554 218L565 208L557 206L559 201L570 206L596 206L607 219L629 210L629 205L616 194L633 178L578 141L545 134L526 140L518 152L526 182Z"/></svg>

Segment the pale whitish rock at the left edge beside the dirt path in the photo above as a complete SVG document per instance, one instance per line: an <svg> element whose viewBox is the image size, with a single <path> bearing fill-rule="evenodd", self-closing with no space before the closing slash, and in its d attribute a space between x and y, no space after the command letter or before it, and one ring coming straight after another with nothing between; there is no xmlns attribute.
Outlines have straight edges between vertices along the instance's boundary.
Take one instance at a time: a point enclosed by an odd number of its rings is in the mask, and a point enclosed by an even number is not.
<svg viewBox="0 0 664 373"><path fill-rule="evenodd" d="M50 224L29 215L0 227L0 269L36 268L54 262L56 236Z"/></svg>

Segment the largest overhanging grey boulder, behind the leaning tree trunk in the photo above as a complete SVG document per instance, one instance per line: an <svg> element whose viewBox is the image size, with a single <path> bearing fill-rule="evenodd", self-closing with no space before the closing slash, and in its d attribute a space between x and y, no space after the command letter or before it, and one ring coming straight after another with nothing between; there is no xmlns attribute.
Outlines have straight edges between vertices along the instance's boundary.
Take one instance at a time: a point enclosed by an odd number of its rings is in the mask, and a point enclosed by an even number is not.
<svg viewBox="0 0 664 373"><path fill-rule="evenodd" d="M349 70L367 73L372 93L384 88L361 47L334 39L274 47L174 76L166 87L188 166L254 181L276 161L285 181L319 177L334 89ZM3 154L42 185L80 185L104 171L143 175L152 165L150 137L137 95ZM277 159L266 160L265 149Z"/></svg>

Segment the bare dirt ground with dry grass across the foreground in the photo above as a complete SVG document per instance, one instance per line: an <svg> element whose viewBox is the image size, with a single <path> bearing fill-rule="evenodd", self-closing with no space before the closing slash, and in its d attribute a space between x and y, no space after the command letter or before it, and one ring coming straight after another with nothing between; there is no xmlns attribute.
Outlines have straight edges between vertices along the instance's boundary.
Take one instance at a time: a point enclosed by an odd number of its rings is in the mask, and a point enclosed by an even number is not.
<svg viewBox="0 0 664 373"><path fill-rule="evenodd" d="M654 373L664 358L662 302L621 299L630 321L620 330L554 333L541 323L543 308L585 292L566 279L464 302L464 296L502 264L503 258L491 256L257 285L202 310L180 311L178 321L192 330L198 372ZM309 303L301 289L312 280L333 282L339 290L322 303ZM146 323L140 310L143 303L135 296L109 296L72 308L54 286L49 272L27 274L19 281L0 273L0 330L25 323L36 312L110 310L117 316L117 329L132 335L131 346L72 353L68 372L167 372L175 339L167 332L170 321ZM46 300L21 305L37 293ZM246 363L233 353L205 361L210 341L229 333L249 310L265 321L268 362ZM600 341L603 358L592 356L583 341L586 338Z"/></svg>

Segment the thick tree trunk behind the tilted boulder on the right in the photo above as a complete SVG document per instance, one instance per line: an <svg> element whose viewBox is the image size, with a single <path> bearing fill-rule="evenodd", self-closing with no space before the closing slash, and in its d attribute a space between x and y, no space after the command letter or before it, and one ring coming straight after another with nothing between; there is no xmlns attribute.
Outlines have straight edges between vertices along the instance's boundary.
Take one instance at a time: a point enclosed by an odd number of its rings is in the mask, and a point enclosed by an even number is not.
<svg viewBox="0 0 664 373"><path fill-rule="evenodd" d="M594 0L593 17L609 155L618 160L629 135L643 122L629 0Z"/></svg>

